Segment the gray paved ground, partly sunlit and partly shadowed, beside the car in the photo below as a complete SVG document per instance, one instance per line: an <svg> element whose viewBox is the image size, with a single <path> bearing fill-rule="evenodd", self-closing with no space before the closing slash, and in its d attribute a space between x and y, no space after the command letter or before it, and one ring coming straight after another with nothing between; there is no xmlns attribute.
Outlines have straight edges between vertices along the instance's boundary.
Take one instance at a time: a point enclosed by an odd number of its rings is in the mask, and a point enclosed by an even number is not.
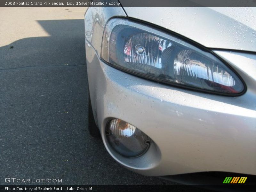
<svg viewBox="0 0 256 192"><path fill-rule="evenodd" d="M0 185L174 184L126 170L89 135L85 9L0 8Z"/></svg>

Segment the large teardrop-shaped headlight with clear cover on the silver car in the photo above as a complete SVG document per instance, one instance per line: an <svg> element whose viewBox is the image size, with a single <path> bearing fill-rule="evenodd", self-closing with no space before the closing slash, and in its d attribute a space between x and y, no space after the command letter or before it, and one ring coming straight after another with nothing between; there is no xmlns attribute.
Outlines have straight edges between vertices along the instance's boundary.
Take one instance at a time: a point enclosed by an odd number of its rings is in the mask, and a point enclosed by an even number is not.
<svg viewBox="0 0 256 192"><path fill-rule="evenodd" d="M108 22L101 58L113 67L158 82L219 94L244 91L239 77L212 53L126 19Z"/></svg>

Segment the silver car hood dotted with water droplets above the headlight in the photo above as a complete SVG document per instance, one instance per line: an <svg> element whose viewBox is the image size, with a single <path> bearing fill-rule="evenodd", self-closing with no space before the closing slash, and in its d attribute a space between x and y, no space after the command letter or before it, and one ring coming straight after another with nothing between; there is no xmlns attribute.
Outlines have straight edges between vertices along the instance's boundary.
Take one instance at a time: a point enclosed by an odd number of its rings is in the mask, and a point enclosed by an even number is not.
<svg viewBox="0 0 256 192"><path fill-rule="evenodd" d="M209 48L256 52L255 7L124 7L128 17L167 28Z"/></svg>

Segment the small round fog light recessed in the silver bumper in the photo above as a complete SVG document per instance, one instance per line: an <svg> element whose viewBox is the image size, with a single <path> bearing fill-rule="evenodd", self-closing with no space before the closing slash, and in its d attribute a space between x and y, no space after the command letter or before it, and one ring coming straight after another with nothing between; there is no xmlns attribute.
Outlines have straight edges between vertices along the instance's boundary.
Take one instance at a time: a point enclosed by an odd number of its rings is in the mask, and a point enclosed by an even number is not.
<svg viewBox="0 0 256 192"><path fill-rule="evenodd" d="M145 133L121 119L108 123L106 135L111 147L127 157L142 155L150 145L150 138Z"/></svg>

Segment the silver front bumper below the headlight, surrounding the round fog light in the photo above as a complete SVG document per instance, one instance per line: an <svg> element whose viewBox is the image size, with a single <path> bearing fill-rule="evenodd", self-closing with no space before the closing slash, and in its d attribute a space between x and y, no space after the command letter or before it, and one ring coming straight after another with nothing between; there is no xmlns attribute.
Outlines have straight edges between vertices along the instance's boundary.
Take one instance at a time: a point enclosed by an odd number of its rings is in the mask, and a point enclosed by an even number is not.
<svg viewBox="0 0 256 192"><path fill-rule="evenodd" d="M100 60L88 41L86 60L94 117L117 162L148 176L206 171L256 174L256 90L255 76L247 77L249 69L236 68L245 78L247 92L227 97L124 73ZM251 62L255 70L256 60ZM140 157L119 155L105 136L111 118L138 127L154 144Z"/></svg>

